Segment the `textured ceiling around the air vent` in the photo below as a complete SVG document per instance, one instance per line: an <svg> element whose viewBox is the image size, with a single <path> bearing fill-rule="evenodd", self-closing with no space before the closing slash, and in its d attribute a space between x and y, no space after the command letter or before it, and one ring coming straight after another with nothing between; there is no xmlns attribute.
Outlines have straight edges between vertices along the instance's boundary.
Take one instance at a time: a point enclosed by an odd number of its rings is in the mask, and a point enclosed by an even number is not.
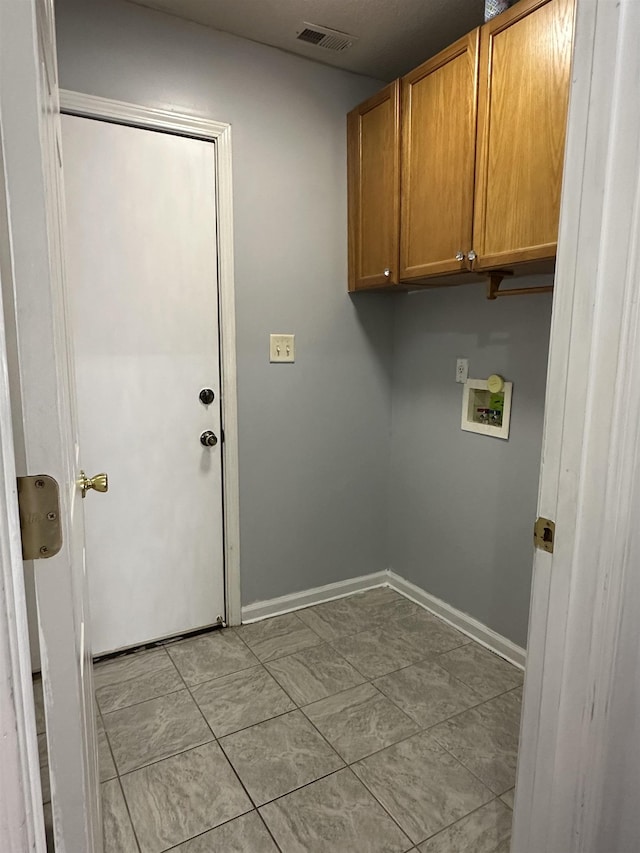
<svg viewBox="0 0 640 853"><path fill-rule="evenodd" d="M483 21L484 0L133 0L327 65L393 80ZM358 41L341 52L296 40L306 21Z"/></svg>

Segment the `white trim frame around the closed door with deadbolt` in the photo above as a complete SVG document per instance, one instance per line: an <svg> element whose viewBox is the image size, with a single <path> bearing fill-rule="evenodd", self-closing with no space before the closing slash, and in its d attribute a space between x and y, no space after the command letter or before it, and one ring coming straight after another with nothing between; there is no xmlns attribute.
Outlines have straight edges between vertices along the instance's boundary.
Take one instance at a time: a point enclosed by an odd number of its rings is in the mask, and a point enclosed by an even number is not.
<svg viewBox="0 0 640 853"><path fill-rule="evenodd" d="M225 608L228 625L241 622L240 489L238 479L238 396L236 385L236 324L233 274L233 194L231 125L199 116L113 101L60 90L60 109L70 115L161 130L215 143L217 178L218 294L220 311L220 373L222 408L222 489L225 566Z"/></svg>

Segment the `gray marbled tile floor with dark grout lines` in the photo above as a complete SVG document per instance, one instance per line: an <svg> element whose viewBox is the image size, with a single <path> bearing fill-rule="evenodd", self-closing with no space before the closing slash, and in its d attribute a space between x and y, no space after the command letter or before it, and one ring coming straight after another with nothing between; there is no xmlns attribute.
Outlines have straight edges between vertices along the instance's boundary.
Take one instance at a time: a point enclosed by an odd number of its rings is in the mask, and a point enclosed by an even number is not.
<svg viewBox="0 0 640 853"><path fill-rule="evenodd" d="M94 673L105 853L509 851L522 673L386 587Z"/></svg>

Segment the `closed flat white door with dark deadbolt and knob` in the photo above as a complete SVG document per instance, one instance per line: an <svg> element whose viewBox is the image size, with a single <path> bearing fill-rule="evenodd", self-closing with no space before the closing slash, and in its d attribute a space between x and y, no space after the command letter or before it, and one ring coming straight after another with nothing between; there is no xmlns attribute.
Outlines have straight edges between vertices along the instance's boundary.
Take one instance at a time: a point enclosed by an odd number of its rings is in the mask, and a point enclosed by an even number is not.
<svg viewBox="0 0 640 853"><path fill-rule="evenodd" d="M109 476L85 501L100 654L224 618L215 151L62 127L82 459Z"/></svg>

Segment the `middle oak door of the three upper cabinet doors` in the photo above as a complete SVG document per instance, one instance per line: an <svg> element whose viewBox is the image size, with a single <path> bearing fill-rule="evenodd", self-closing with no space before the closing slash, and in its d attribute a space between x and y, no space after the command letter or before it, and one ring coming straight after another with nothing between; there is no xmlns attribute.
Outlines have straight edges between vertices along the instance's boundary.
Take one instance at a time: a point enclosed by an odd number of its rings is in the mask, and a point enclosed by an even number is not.
<svg viewBox="0 0 640 853"><path fill-rule="evenodd" d="M467 268L478 34L474 30L402 79L403 280Z"/></svg>

